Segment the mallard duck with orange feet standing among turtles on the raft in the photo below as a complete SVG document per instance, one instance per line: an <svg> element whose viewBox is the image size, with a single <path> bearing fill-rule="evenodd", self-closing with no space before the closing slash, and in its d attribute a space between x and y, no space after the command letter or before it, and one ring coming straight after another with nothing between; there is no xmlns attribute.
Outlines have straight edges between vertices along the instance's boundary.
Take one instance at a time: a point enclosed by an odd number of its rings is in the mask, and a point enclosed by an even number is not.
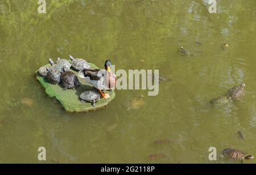
<svg viewBox="0 0 256 175"><path fill-rule="evenodd" d="M94 88L98 89L104 97L109 98L108 93L102 92L102 90L111 90L115 87L117 77L111 71L112 63L110 60L105 61L104 69L84 69L79 71L79 76L84 78L86 82L93 85Z"/></svg>

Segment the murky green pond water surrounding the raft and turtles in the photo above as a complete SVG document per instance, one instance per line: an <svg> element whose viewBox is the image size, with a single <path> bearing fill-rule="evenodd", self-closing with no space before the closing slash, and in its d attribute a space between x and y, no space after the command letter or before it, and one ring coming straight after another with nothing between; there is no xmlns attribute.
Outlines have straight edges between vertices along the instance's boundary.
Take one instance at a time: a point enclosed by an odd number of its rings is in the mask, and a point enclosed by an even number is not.
<svg viewBox="0 0 256 175"><path fill-rule="evenodd" d="M37 1L1 0L0 163L39 163L40 146L47 163L151 163L154 153L168 156L157 163L233 163L209 161L211 146L256 155L256 2L217 1L218 14L206 2L47 1L38 14ZM193 56L180 56L180 45ZM111 59L116 69L159 69L170 82L158 96L120 90L109 108L66 113L34 71L69 54L101 67ZM245 100L209 104L242 82ZM144 105L127 112L123 103L139 93ZM172 143L154 145L161 139Z"/></svg>

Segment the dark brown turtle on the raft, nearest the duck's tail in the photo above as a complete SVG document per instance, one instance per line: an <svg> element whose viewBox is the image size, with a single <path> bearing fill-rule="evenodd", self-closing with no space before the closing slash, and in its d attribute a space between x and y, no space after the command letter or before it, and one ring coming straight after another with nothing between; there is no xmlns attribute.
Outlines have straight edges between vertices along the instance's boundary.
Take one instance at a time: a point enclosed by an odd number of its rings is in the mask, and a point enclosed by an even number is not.
<svg viewBox="0 0 256 175"><path fill-rule="evenodd" d="M69 68L66 66L63 67L63 73L60 75L60 80L61 84L64 86L63 90L75 89L80 86L80 82L76 74L69 71Z"/></svg>

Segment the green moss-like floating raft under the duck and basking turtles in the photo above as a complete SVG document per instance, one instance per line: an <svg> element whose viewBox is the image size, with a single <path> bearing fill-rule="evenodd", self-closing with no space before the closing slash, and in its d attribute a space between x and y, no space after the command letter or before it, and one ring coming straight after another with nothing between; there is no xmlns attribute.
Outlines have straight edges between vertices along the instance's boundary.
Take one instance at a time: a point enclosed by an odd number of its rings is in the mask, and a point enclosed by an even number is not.
<svg viewBox="0 0 256 175"><path fill-rule="evenodd" d="M90 63L92 69L98 69L96 65ZM47 65L50 67L50 65ZM77 75L77 71L71 68L71 71L75 72ZM60 101L60 104L64 107L67 112L88 112L90 110L97 110L104 108L106 105L110 103L115 97L114 91L107 91L109 93L109 99L101 99L96 103L96 106L93 107L91 103L81 103L80 101L80 94L84 91L93 90L93 86L87 83L84 79L79 77L79 81L82 84L81 86L77 87L75 90L67 89L63 90L61 83L54 85L48 83L47 78L41 76L38 70L35 72L36 79L42 84L44 89L46 89L46 93L50 97L55 97L57 100ZM78 75L77 75L78 76Z"/></svg>

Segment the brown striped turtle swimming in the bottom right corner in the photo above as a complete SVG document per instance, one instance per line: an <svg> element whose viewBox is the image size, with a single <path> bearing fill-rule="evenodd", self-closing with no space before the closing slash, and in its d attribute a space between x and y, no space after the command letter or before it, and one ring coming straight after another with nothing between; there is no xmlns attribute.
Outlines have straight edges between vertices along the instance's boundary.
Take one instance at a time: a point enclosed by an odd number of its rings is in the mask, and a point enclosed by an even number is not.
<svg viewBox="0 0 256 175"><path fill-rule="evenodd" d="M243 153L240 150L236 150L236 149L232 149L232 148L224 149L223 155L225 157L229 157L229 159L241 161L241 163L243 163L243 160L253 159L253 155L248 155L247 153Z"/></svg>

